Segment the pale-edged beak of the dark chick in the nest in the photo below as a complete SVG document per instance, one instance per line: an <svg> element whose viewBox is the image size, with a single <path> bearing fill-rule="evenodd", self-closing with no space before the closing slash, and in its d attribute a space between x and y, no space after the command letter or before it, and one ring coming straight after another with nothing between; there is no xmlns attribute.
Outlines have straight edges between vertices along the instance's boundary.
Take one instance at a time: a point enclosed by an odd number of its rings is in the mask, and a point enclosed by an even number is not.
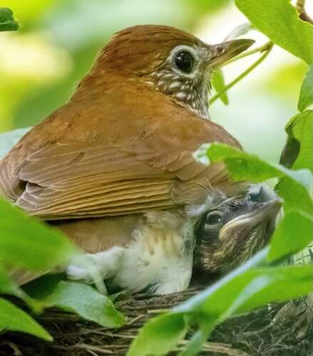
<svg viewBox="0 0 313 356"><path fill-rule="evenodd" d="M253 211L228 221L220 229L220 240L234 238L247 240L253 235L254 239L261 239L266 243L274 231L274 222L281 207L282 199L278 197L260 203Z"/></svg>

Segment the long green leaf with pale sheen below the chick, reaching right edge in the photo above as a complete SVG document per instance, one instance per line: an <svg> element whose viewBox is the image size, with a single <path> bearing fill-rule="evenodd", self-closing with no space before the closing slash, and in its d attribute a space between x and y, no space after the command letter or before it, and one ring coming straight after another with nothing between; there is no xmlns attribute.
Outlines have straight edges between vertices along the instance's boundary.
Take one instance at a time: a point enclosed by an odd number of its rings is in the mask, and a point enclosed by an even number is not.
<svg viewBox="0 0 313 356"><path fill-rule="evenodd" d="M230 315L310 293L312 276L312 266L255 268L245 272L240 267L171 313L201 313L207 321L221 323Z"/></svg>

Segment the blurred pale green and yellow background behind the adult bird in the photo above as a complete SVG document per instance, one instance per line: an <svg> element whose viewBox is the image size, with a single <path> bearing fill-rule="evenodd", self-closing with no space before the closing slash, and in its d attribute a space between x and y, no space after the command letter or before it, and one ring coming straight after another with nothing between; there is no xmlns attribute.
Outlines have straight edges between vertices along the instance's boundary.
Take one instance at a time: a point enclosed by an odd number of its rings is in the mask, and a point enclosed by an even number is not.
<svg viewBox="0 0 313 356"><path fill-rule="evenodd" d="M65 103L99 49L121 28L166 24L217 43L247 21L233 0L4 0L1 6L14 11L20 28L0 33L0 132L35 125ZM267 41L257 31L245 37L254 38L255 46ZM225 67L226 82L257 56ZM306 70L299 59L275 47L230 90L230 105L212 104L212 120L245 150L277 162Z"/></svg>

